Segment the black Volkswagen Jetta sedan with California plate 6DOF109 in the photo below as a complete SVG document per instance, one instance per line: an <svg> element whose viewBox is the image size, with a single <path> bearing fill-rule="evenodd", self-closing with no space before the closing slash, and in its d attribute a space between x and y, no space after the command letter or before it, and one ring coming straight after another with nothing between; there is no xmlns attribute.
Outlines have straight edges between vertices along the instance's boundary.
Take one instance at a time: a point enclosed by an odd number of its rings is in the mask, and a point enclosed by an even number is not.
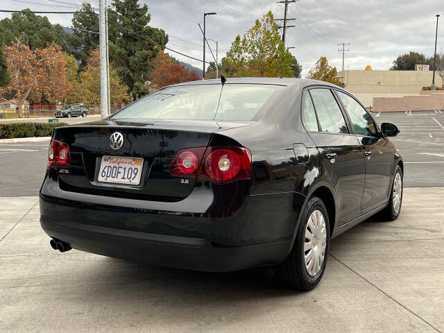
<svg viewBox="0 0 444 333"><path fill-rule="evenodd" d="M165 87L54 129L40 222L61 252L201 271L272 265L308 290L330 239L400 214L404 167L388 139L398 132L316 80Z"/></svg>

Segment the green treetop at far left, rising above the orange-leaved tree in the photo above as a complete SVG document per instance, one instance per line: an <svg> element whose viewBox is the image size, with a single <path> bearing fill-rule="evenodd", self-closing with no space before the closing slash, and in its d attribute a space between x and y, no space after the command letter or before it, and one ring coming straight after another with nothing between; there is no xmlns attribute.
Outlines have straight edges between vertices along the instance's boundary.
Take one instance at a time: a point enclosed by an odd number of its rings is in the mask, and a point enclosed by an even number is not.
<svg viewBox="0 0 444 333"><path fill-rule="evenodd" d="M47 17L35 15L29 9L15 12L11 18L2 19L0 31L6 45L12 44L24 34L28 36L27 44L31 50L42 49L52 42L56 42L64 50L69 48L69 35L60 24L53 26Z"/></svg>

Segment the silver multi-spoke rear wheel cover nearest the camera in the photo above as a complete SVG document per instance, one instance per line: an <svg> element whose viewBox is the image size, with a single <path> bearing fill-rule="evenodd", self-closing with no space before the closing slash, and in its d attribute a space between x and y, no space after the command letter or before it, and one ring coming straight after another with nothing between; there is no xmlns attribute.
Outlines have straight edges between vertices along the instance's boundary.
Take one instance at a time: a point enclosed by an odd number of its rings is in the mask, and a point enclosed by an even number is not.
<svg viewBox="0 0 444 333"><path fill-rule="evenodd" d="M324 263L327 246L325 218L320 210L311 213L305 227L304 261L307 273L315 276Z"/></svg>

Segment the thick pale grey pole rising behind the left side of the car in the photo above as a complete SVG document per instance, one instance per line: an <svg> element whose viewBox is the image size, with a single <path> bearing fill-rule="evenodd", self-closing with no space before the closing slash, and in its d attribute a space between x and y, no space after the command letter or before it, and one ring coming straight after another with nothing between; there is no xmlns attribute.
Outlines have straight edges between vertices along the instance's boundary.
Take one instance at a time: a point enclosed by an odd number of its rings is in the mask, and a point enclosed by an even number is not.
<svg viewBox="0 0 444 333"><path fill-rule="evenodd" d="M100 44L100 113L108 117L108 83L106 75L106 0L99 0L99 44Z"/></svg>

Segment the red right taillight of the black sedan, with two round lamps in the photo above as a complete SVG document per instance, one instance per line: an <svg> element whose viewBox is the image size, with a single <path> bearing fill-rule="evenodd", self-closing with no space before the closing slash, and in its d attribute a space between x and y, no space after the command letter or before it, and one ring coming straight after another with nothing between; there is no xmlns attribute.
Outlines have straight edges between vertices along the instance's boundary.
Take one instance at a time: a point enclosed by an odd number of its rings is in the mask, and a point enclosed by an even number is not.
<svg viewBox="0 0 444 333"><path fill-rule="evenodd" d="M174 157L171 174L198 176L216 183L250 179L251 154L248 149L239 147L208 147L206 151L203 147L185 149Z"/></svg>

